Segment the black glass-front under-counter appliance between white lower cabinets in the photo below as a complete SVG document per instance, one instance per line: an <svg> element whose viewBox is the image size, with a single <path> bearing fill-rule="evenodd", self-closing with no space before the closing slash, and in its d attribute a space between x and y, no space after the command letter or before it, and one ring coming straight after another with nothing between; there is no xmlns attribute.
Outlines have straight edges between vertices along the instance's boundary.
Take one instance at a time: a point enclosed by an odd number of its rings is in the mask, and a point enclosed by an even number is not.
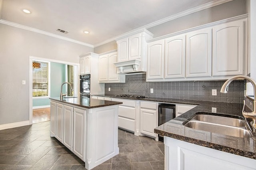
<svg viewBox="0 0 256 170"><path fill-rule="evenodd" d="M159 104L158 105L158 126L175 118L176 109L172 104ZM158 135L158 140L164 141L164 136Z"/></svg>

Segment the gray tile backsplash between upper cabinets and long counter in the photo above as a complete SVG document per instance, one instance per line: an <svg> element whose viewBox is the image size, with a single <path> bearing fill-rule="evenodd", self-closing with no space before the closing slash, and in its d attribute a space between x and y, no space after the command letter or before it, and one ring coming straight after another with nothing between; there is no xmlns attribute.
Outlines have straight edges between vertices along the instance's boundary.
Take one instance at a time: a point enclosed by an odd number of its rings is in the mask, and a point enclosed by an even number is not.
<svg viewBox="0 0 256 170"><path fill-rule="evenodd" d="M146 74L126 75L126 83L105 83L105 94L129 94L170 99L243 103L244 81L233 81L229 85L228 93L220 93L220 88L224 82L146 82ZM109 87L110 91L108 91ZM153 89L154 93L150 93L150 89ZM212 96L212 89L217 89L217 96Z"/></svg>

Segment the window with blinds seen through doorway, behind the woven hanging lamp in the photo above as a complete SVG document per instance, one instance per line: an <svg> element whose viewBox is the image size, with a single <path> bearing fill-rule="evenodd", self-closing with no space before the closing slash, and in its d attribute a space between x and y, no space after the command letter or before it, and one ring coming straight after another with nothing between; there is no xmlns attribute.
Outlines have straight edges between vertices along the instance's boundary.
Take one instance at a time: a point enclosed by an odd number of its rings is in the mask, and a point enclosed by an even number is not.
<svg viewBox="0 0 256 170"><path fill-rule="evenodd" d="M46 61L34 61L40 63L39 68L33 67L33 97L49 96L49 65Z"/></svg>

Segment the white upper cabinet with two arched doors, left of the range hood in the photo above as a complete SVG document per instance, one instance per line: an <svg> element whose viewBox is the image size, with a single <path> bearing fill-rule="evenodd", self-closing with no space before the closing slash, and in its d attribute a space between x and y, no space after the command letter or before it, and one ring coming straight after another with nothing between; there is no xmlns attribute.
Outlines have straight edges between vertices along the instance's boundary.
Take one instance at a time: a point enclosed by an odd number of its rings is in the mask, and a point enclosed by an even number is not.
<svg viewBox="0 0 256 170"><path fill-rule="evenodd" d="M117 73L116 65L114 65L116 61L116 51L99 55L100 83L125 83L125 75Z"/></svg>

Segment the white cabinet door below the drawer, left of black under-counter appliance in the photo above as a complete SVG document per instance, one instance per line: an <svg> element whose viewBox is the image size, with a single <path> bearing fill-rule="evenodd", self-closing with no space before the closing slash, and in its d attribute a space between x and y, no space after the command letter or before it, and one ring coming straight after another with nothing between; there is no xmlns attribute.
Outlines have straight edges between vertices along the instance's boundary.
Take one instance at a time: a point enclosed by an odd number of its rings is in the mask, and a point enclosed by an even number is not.
<svg viewBox="0 0 256 170"><path fill-rule="evenodd" d="M152 137L156 137L154 128L157 127L156 123L156 110L140 109L140 132Z"/></svg>

